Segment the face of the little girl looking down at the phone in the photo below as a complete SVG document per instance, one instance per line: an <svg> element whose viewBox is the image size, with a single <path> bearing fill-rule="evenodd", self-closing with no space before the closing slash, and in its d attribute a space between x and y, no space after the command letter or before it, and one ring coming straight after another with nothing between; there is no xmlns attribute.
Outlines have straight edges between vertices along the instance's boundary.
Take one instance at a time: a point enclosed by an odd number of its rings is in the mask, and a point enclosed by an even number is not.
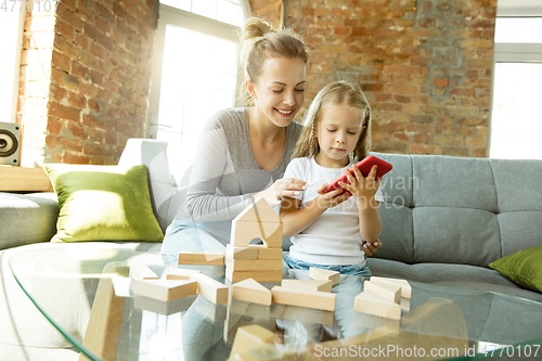
<svg viewBox="0 0 542 361"><path fill-rule="evenodd" d="M320 114L317 138L320 153L317 163L327 168L346 167L365 127L365 111L346 104L325 105Z"/></svg>

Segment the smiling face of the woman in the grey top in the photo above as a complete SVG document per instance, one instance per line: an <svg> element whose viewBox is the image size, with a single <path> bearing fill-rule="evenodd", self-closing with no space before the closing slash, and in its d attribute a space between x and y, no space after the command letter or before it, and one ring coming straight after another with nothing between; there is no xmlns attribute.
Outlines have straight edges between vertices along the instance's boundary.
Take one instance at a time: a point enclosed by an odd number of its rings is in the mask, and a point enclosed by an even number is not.
<svg viewBox="0 0 542 361"><path fill-rule="evenodd" d="M256 111L278 127L287 127L305 101L305 62L300 59L269 57L256 82L246 81Z"/></svg>

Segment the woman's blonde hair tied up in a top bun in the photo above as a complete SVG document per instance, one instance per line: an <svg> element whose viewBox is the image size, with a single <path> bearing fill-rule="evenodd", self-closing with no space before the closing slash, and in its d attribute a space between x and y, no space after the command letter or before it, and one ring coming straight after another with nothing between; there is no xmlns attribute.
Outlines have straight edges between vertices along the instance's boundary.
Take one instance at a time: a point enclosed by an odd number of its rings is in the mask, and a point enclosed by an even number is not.
<svg viewBox="0 0 542 361"><path fill-rule="evenodd" d="M243 27L240 61L245 79L253 82L263 73L263 63L269 57L284 56L300 59L306 64L309 61L309 48L292 30L275 30L273 26L259 17L250 17ZM245 92L243 103L254 104L248 92Z"/></svg>

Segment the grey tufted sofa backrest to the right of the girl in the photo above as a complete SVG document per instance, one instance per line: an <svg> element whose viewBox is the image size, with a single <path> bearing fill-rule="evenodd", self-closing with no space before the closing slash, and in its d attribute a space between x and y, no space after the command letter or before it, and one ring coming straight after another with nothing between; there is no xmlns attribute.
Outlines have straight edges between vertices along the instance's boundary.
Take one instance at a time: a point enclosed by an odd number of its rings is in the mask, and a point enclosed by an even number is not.
<svg viewBox="0 0 542 361"><path fill-rule="evenodd" d="M542 160L374 155L393 166L375 257L486 267L542 244Z"/></svg>

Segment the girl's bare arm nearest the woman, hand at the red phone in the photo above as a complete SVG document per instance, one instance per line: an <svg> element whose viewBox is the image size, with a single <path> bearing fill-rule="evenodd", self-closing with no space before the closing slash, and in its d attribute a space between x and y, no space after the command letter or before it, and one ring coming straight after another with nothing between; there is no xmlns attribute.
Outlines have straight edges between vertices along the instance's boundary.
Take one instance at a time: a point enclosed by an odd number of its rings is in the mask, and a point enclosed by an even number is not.
<svg viewBox="0 0 542 361"><path fill-rule="evenodd" d="M330 193L322 193L328 184L317 190L318 196L300 208L301 201L292 197L282 197L281 219L284 227L284 236L292 237L311 225L322 214L331 207L345 202L349 196L341 189ZM343 193L343 194L340 194Z"/></svg>

